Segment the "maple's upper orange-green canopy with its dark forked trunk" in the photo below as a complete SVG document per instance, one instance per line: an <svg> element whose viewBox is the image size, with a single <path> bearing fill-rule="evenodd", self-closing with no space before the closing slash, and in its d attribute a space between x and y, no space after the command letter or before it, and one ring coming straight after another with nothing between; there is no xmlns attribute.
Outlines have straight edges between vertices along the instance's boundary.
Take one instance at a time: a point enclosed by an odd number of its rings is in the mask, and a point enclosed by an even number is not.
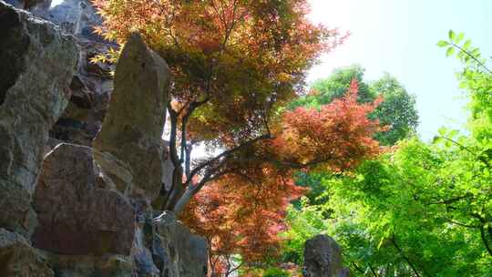
<svg viewBox="0 0 492 277"><path fill-rule="evenodd" d="M282 107L302 93L306 70L344 38L313 25L305 0L93 4L103 18L97 33L124 44L138 31L169 65L169 149L175 170L161 202L177 212L206 183L231 173L228 164L237 164L246 151L264 158L264 148L251 148L275 137ZM193 161L193 146L200 143L224 152ZM296 166L306 166L306 159Z"/></svg>

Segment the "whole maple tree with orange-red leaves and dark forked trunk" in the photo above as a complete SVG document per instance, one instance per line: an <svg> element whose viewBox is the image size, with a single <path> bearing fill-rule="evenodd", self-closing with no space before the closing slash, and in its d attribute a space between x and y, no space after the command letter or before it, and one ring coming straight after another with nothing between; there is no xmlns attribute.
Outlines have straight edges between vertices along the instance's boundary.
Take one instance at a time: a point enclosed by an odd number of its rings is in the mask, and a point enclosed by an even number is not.
<svg viewBox="0 0 492 277"><path fill-rule="evenodd" d="M379 100L357 103L356 82L322 108L285 109L304 94L317 57L345 37L313 25L307 1L93 4L103 18L97 33L123 45L138 31L169 65L175 169L157 203L209 240L212 272L233 272L233 255L253 262L278 250L285 208L302 192L294 170L343 170L379 150L372 139L379 124L367 119ZM204 144L222 152L192 159Z"/></svg>

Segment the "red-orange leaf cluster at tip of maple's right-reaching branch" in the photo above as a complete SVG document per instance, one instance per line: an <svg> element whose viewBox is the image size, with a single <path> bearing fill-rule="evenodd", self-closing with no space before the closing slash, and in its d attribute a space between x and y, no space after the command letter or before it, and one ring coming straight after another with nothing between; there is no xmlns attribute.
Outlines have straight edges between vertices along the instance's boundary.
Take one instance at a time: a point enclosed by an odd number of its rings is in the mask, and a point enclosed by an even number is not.
<svg viewBox="0 0 492 277"><path fill-rule="evenodd" d="M335 99L320 110L296 108L283 114L282 132L272 140L272 149L292 164L322 164L343 170L376 154L379 144L373 134L384 128L367 116L382 101L359 104L358 84L352 81L345 97Z"/></svg>

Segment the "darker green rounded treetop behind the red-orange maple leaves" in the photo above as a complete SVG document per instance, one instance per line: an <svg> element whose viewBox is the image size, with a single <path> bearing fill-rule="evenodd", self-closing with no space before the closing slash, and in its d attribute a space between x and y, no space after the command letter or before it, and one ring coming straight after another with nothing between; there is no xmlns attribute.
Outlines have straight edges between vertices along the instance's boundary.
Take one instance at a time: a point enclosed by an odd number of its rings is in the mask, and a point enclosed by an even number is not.
<svg viewBox="0 0 492 277"><path fill-rule="evenodd" d="M374 101L378 96L384 98L384 102L374 110L372 118L379 119L389 129L378 133L375 139L383 145L393 145L399 139L408 138L415 133L418 125L415 97L408 94L405 87L389 74L384 74L371 84L364 82L364 68L359 66L340 68L332 76L317 80L311 87L312 93L299 97L289 108L320 108L334 98L342 97L353 79L359 83L359 102Z"/></svg>

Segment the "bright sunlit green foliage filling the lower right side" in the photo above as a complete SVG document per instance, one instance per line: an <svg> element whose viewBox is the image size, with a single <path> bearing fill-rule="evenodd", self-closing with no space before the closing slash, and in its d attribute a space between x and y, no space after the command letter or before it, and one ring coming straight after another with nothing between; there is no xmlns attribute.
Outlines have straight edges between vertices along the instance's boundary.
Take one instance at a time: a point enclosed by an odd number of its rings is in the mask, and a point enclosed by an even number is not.
<svg viewBox="0 0 492 277"><path fill-rule="evenodd" d="M437 45L465 65L470 135L440 128L354 172L300 174L313 190L288 212L284 262L302 262L304 241L327 233L354 276L492 276L492 73L463 34L448 38Z"/></svg>

